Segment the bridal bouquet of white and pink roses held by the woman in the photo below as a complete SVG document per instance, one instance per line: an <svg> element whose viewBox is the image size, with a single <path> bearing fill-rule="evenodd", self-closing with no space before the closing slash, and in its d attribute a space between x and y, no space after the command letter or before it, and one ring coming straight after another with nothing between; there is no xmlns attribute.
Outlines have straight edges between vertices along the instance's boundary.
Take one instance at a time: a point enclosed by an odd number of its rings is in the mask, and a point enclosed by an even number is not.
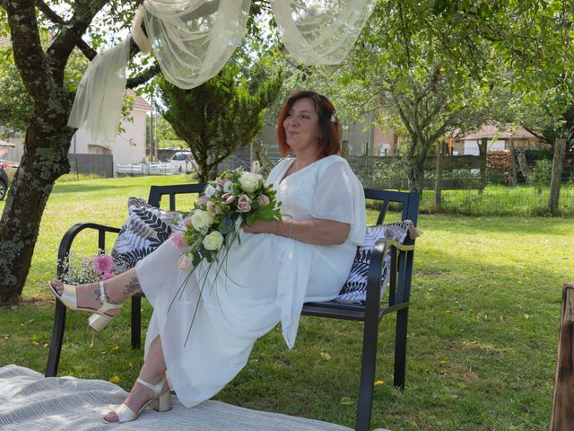
<svg viewBox="0 0 574 431"><path fill-rule="evenodd" d="M252 171L255 171L253 169ZM257 220L281 220L281 202L275 198L273 186L265 186L258 172L242 168L226 170L205 186L194 210L184 219L184 229L171 236L179 249L187 249L178 261L186 271L202 260L217 260L223 246L229 250L239 241L239 226L253 225Z"/></svg>

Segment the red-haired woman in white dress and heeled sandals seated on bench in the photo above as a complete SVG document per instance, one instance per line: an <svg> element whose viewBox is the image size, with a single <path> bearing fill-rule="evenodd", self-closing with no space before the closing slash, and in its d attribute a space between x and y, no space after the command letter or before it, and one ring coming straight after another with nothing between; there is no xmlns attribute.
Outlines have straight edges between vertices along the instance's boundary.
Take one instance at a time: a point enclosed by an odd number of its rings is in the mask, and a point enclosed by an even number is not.
<svg viewBox="0 0 574 431"><path fill-rule="evenodd" d="M170 409L170 388L187 407L208 400L246 365L257 338L281 321L293 347L303 303L338 295L364 239L365 202L360 181L337 155L333 105L316 92L294 92L280 111L277 138L284 155L295 155L266 180L282 202L283 222L242 226L240 245L230 247L222 270L208 271L203 261L189 276L177 267L182 251L167 241L105 283L50 282L69 308L96 312L94 330L137 292L152 303L139 378L105 422L134 420L150 404ZM202 277L207 287L200 293Z"/></svg>

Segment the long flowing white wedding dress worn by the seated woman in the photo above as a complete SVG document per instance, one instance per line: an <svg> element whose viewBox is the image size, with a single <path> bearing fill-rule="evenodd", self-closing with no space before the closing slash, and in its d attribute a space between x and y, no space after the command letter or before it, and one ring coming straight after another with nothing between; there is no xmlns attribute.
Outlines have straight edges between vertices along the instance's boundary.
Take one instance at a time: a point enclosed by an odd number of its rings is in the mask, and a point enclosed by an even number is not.
<svg viewBox="0 0 574 431"><path fill-rule="evenodd" d="M363 189L349 164L331 155L283 178L293 160L283 159L267 179L282 202L283 218L351 224L344 244L311 245L241 231L240 245L231 245L219 270L202 262L189 277L178 269L181 251L171 241L136 266L153 306L145 350L161 336L171 387L187 407L229 383L247 364L256 339L279 321L293 347L303 303L338 295L363 242Z"/></svg>

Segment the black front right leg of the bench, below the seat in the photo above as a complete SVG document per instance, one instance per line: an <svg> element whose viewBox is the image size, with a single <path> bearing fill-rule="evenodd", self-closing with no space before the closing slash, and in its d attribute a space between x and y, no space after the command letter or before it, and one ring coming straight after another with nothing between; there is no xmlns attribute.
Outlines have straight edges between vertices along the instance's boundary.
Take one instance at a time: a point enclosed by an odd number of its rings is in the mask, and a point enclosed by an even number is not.
<svg viewBox="0 0 574 431"><path fill-rule="evenodd" d="M377 365L378 319L365 321L362 337L361 383L357 402L356 431L369 431Z"/></svg>

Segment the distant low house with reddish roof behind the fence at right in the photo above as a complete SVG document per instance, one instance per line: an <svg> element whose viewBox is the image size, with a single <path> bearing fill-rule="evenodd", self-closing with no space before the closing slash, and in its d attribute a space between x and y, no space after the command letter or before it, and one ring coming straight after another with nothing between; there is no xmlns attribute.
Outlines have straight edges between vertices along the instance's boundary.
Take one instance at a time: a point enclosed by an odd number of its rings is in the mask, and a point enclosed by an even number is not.
<svg viewBox="0 0 574 431"><path fill-rule="evenodd" d="M522 126L508 125L501 128L496 123L489 123L465 136L448 139L448 149L453 155L478 155L478 145L483 139L487 139L488 151L510 150L511 146L516 149L544 149L550 146Z"/></svg>

